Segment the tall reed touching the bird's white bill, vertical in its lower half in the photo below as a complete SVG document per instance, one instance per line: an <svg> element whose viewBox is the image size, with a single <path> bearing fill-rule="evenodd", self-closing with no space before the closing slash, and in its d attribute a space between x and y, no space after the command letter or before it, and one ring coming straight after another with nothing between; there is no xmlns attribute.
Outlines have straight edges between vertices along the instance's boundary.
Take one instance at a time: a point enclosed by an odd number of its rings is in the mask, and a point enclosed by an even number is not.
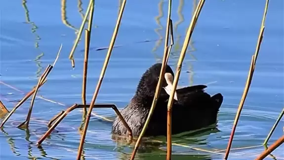
<svg viewBox="0 0 284 160"><path fill-rule="evenodd" d="M185 57L185 53L187 51L195 24L197 22L197 19L199 17L199 14L201 12L201 9L203 7L205 0L200 0L198 3L197 8L195 9L193 18L191 20L190 26L188 28L184 43L183 43L183 47L181 49L181 53L177 62L177 68L176 68L176 75L174 77L174 81L173 81L173 88L171 91L171 94L169 96L169 100L168 100L168 104L167 104L167 160L171 160L171 148L172 148L172 144L171 144L171 114L172 114L172 104L173 104L173 97L174 97L174 93L176 91L176 87L177 87L177 83L178 83L178 79L180 76L180 72L181 72L181 67L182 67L182 62L183 59Z"/></svg>

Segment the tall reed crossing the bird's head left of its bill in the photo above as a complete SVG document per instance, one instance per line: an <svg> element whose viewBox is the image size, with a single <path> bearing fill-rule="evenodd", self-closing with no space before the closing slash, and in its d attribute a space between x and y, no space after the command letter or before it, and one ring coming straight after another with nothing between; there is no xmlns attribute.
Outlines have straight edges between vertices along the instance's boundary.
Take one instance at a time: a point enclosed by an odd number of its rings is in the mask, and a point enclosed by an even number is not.
<svg viewBox="0 0 284 160"><path fill-rule="evenodd" d="M155 95L154 95L154 99L153 99L153 102L152 102L152 106L151 106L151 109L149 111L149 114L147 116L147 119L146 119L146 122L143 126L143 129L135 143L135 146L134 146L134 149L132 151L132 154L131 154L131 158L130 160L134 160L135 158L135 155L136 155L136 152L138 150L138 147L141 143L141 140L142 140L142 137L143 135L145 134L146 132L146 129L147 129L147 126L150 122L150 119L153 115L153 111L154 111L154 108L156 107L156 104L157 104L157 101L158 101L158 98L160 96L160 92L161 92L161 88L162 88L162 80L164 78L164 72L165 72L165 66L167 64L167 59L169 57L169 53L170 53L170 50L171 50L171 47L173 45L173 31L172 31L172 21L170 19L170 15L171 15L171 0L168 0L168 16L167 16L167 25L166 25L166 33L165 33L165 43L164 43L164 53L163 53L163 58L162 58L162 67L161 67L161 71L160 71L160 76L159 76L159 80L158 80L158 84L157 84L157 87L156 87L156 91L155 91ZM169 37L169 30L171 30L171 45L170 47L168 47L168 37Z"/></svg>

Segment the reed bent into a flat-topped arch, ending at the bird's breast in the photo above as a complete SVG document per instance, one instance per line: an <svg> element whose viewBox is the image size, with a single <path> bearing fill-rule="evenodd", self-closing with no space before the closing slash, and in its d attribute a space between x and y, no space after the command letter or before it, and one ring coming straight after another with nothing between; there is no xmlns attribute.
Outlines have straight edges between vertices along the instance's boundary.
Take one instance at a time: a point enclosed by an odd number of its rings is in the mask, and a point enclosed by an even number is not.
<svg viewBox="0 0 284 160"><path fill-rule="evenodd" d="M73 106L67 108L65 111L61 111L59 114L57 114L56 116L54 116L52 118L52 120L49 121L49 125L51 125L54 121L54 123L49 127L49 129L45 132L44 135L41 136L40 140L38 141L37 145L41 145L41 143L46 139L46 137L48 135L50 135L50 133L54 130L54 128L62 121L62 119L72 110L76 109L76 108L89 108L90 105L77 105L74 104ZM123 125L125 126L125 128L127 129L128 132L130 132L132 134L132 131L130 129L130 127L128 126L128 124L126 123L126 121L124 120L124 118L122 117L122 114L120 113L118 107L114 104L95 104L93 105L93 107L95 108L112 108L115 110L116 114L119 116L119 118L121 119Z"/></svg>

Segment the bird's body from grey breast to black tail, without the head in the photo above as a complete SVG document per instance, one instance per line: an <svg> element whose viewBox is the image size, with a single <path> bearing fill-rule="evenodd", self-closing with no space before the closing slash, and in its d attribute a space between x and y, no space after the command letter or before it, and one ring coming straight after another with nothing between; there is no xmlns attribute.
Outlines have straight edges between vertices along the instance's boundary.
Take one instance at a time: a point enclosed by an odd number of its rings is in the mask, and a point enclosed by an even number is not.
<svg viewBox="0 0 284 160"><path fill-rule="evenodd" d="M211 97L203 91L204 88L206 86L198 85L177 90L178 101L174 101L172 106L172 134L200 129L216 122L223 97L221 94ZM168 98L165 94L160 95L144 136L166 135ZM121 114L133 136L137 137L141 133L152 102L153 97L141 99L134 96L122 109ZM117 117L112 133L125 135L126 132L122 121Z"/></svg>

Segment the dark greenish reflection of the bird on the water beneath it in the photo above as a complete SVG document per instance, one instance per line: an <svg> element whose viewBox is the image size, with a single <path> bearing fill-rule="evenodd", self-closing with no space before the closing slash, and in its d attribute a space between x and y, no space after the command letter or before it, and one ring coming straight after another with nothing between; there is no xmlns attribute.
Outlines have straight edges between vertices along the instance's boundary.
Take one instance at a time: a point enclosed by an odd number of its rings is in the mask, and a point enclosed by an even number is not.
<svg viewBox="0 0 284 160"><path fill-rule="evenodd" d="M186 132L178 135L172 136L172 143L176 144L186 144L186 146L194 146L194 145L207 145L209 143L206 142L206 137L211 133L217 133L219 130L217 129L217 125L210 125L206 128L202 128L200 130ZM121 160L128 160L131 157L131 153L133 147L136 143L135 140L129 142L128 137L121 137L118 135L112 135L112 139L117 143L117 147L115 150L120 153ZM175 160L211 160L209 154L200 155L199 152L190 149L184 148L184 152L176 153L174 151L173 144L173 155L172 158ZM191 155L188 155L188 152L191 152ZM196 153L196 154L195 154ZM143 138L140 146L138 148L136 158L139 160L164 160L166 158L166 137L151 137L151 138ZM185 154L185 155L183 155Z"/></svg>

